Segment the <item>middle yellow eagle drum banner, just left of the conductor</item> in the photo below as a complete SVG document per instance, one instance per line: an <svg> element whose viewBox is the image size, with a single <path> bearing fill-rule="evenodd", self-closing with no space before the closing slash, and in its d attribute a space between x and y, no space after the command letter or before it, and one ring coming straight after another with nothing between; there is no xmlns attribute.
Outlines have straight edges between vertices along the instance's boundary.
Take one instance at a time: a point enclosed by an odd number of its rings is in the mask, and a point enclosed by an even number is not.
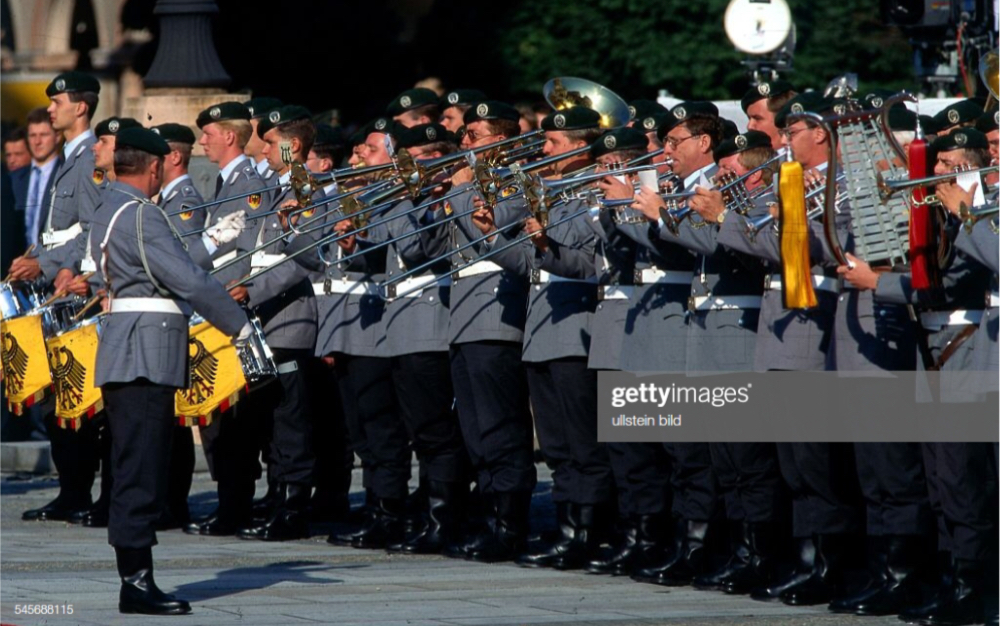
<svg viewBox="0 0 1000 626"><path fill-rule="evenodd" d="M62 428L77 430L84 417L94 417L104 408L101 390L94 385L97 343L97 318L46 341L56 392L56 420Z"/></svg>

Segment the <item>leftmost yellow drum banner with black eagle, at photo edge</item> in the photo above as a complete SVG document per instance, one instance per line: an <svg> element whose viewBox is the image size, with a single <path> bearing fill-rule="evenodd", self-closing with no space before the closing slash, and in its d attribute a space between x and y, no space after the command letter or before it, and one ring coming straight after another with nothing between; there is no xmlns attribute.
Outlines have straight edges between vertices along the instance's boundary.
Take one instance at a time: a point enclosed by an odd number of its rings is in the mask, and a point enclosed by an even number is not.
<svg viewBox="0 0 1000 626"><path fill-rule="evenodd" d="M45 357L40 315L23 315L0 322L0 356L7 403L14 415L41 402L52 387Z"/></svg>

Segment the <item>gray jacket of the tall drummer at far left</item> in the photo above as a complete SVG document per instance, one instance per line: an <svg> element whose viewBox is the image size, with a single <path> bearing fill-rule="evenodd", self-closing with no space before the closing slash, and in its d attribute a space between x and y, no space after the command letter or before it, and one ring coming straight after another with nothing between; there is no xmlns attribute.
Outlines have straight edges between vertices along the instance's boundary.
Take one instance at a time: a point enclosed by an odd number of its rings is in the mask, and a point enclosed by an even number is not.
<svg viewBox="0 0 1000 626"><path fill-rule="evenodd" d="M95 173L92 150L95 143L93 135L81 141L52 174L48 220L42 233L65 230L77 223L83 232L57 248L38 250L38 263L49 280L54 279L60 269L79 270L78 264L87 247L90 221L101 201L101 191L108 185L103 172L99 176Z"/></svg>

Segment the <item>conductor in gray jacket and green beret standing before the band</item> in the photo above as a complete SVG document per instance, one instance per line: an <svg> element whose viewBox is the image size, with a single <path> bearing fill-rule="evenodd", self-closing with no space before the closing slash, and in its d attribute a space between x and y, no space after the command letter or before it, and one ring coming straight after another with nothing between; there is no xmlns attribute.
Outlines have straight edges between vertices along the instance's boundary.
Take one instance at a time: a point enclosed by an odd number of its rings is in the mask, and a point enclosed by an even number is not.
<svg viewBox="0 0 1000 626"><path fill-rule="evenodd" d="M188 317L192 309L245 342L246 315L221 283L188 256L162 210L149 200L162 182L170 151L156 133L130 128L118 135L118 191L90 233L110 308L97 350L96 384L104 394L112 434L114 487L108 542L122 579L122 613L180 615L183 600L153 581L154 525L166 499L174 431L174 394L187 385Z"/></svg>

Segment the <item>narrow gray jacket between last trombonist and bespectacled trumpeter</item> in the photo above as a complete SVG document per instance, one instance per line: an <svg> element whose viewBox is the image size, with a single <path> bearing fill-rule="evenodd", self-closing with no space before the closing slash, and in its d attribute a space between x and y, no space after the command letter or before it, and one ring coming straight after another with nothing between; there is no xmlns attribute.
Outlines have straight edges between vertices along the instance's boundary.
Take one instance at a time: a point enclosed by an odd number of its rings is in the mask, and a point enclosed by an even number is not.
<svg viewBox="0 0 1000 626"><path fill-rule="evenodd" d="M597 219L583 218L597 234L597 307L590 325L590 358L587 367L617 370L621 363L625 324L632 306L635 279L635 255L638 244L616 227L611 213L601 211Z"/></svg>

